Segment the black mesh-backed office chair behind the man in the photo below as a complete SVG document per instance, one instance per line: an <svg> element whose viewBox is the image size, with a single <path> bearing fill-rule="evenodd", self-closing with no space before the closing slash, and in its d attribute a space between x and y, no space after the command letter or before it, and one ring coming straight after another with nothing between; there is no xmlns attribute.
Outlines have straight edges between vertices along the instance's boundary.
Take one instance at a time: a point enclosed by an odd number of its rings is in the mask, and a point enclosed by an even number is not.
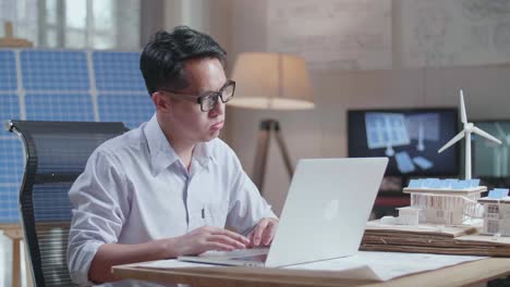
<svg viewBox="0 0 510 287"><path fill-rule="evenodd" d="M75 286L66 262L71 202L69 189L90 153L127 130L122 123L9 121L21 136L26 166L20 212L36 286Z"/></svg>

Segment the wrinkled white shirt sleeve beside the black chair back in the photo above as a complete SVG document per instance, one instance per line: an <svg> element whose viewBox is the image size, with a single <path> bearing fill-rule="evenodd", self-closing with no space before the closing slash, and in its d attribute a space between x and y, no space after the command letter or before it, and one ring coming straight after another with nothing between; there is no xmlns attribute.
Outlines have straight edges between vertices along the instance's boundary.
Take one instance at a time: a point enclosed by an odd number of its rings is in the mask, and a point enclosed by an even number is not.
<svg viewBox="0 0 510 287"><path fill-rule="evenodd" d="M129 214L125 185L116 158L96 150L70 189L73 217L68 264L71 278L76 284L90 285L88 270L98 248L118 241Z"/></svg>

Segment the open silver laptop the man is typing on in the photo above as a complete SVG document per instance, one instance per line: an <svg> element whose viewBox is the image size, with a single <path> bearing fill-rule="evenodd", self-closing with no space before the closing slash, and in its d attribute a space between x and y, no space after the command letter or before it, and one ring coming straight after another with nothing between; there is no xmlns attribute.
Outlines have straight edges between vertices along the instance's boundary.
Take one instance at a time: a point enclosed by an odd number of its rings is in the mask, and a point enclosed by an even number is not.
<svg viewBox="0 0 510 287"><path fill-rule="evenodd" d="M270 248L178 259L278 267L353 255L387 164L387 158L300 160Z"/></svg>

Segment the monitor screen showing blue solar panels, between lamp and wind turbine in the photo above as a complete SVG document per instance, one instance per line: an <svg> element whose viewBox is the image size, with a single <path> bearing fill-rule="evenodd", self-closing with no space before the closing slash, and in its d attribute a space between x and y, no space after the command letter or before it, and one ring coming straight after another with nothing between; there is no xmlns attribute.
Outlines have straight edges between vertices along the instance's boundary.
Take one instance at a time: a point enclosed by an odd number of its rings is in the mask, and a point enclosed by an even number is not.
<svg viewBox="0 0 510 287"><path fill-rule="evenodd" d="M388 157L386 175L454 176L458 146L437 153L458 130L457 109L348 111L349 157Z"/></svg>

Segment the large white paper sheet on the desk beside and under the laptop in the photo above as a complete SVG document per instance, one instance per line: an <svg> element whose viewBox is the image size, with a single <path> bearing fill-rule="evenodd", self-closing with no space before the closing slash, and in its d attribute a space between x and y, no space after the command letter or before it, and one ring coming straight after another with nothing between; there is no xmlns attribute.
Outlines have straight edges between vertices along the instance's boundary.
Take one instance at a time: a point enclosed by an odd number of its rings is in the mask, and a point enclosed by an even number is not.
<svg viewBox="0 0 510 287"><path fill-rule="evenodd" d="M389 280L425 271L437 270L486 257L441 255L428 253L360 251L355 255L287 266L288 270L344 271L367 266L375 276L367 279ZM359 274L363 275L363 274ZM367 276L369 274L367 273ZM355 277L364 278L364 277Z"/></svg>

